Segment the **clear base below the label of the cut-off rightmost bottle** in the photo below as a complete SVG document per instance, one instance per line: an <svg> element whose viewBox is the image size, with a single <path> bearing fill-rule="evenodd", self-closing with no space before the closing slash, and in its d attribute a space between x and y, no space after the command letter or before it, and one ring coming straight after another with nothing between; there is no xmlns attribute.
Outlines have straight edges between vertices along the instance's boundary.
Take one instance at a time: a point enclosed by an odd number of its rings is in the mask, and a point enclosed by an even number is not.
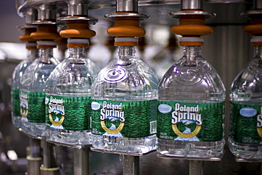
<svg viewBox="0 0 262 175"><path fill-rule="evenodd" d="M243 144L229 138L229 149L236 159L242 159L239 162L261 161L262 159L262 145L259 144Z"/></svg>

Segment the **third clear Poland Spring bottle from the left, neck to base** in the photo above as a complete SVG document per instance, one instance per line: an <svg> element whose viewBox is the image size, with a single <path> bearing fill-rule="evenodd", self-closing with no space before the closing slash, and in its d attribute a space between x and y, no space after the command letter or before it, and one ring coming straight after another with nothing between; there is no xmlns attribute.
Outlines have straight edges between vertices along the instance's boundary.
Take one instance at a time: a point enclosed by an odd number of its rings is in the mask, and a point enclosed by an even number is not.
<svg viewBox="0 0 262 175"><path fill-rule="evenodd" d="M91 85L99 69L85 49L70 47L70 56L47 79L46 138L51 142L91 145Z"/></svg>

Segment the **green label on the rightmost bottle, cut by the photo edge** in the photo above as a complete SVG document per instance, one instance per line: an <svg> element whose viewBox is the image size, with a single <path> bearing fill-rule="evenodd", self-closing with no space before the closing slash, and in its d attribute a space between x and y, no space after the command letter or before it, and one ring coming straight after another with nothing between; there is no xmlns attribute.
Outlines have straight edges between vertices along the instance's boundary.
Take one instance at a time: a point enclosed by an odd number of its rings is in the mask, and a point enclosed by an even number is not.
<svg viewBox="0 0 262 175"><path fill-rule="evenodd" d="M262 142L262 106L230 103L229 137L235 142Z"/></svg>

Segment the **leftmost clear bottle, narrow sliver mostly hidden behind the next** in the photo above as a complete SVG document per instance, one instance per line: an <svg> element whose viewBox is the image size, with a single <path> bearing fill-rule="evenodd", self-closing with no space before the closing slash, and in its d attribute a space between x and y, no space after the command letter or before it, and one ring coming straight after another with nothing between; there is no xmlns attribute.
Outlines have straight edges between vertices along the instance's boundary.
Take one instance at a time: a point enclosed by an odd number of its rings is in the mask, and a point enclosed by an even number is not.
<svg viewBox="0 0 262 175"><path fill-rule="evenodd" d="M20 90L19 85L21 81L21 77L23 76L23 72L25 69L35 60L37 57L38 50L32 49L28 50L28 56L25 60L21 61L16 68L13 70L12 75L12 85L11 85L11 100L12 100L12 112L11 118L12 123L16 128L20 128L20 121L21 121L21 113L20 113Z"/></svg>

